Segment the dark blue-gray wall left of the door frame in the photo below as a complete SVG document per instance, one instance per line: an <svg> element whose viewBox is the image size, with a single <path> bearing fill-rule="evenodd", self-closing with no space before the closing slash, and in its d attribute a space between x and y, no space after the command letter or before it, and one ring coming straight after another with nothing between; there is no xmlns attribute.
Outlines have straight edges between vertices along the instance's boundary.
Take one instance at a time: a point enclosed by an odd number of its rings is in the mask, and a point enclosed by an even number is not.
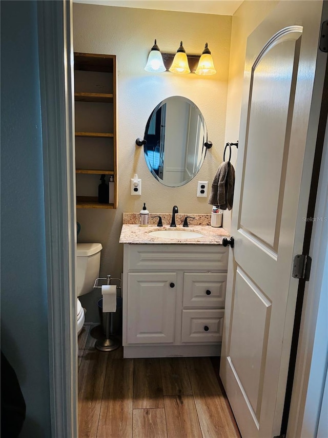
<svg viewBox="0 0 328 438"><path fill-rule="evenodd" d="M1 4L1 348L26 402L22 438L50 436L36 2Z"/></svg>

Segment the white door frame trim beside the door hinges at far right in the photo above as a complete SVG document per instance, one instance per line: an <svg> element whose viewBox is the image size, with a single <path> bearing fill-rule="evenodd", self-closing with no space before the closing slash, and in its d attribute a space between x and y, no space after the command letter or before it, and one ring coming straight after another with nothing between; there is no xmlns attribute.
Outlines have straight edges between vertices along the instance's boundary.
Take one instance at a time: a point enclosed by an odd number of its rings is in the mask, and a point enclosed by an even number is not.
<svg viewBox="0 0 328 438"><path fill-rule="evenodd" d="M327 56L327 55L325 55ZM327 66L328 68L328 66ZM327 90L326 90L327 94ZM324 172L328 164L328 121L325 124L325 138L319 172L318 192L314 218L328 218L328 174ZM326 342L327 339L318 337L316 333L324 331L326 316L319 312L320 299L326 293L323 287L328 232L324 221L314 221L310 244L310 255L313 259L310 281L306 282L304 290L303 309L300 321L299 340L295 364L292 398L288 418L287 437L316 436L319 416L315 417L315 407L320 411L322 403L323 386L326 373ZM327 335L326 335L327 337ZM321 351L315 354L315 348ZM320 371L323 372L322 375ZM312 379L312 373L316 378ZM322 385L322 386L321 386ZM316 394L315 401L308 399L308 390L311 387L312 395ZM309 407L311 403L311 408ZM317 406L315 406L317 405ZM319 415L319 411L317 412Z"/></svg>

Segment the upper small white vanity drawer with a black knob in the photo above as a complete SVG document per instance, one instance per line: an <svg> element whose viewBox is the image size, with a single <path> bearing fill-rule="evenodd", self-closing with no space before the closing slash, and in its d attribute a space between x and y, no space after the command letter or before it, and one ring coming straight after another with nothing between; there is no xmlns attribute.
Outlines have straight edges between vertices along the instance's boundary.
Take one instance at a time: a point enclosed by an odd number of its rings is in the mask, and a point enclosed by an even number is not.
<svg viewBox="0 0 328 438"><path fill-rule="evenodd" d="M223 308L226 287L227 274L185 272L183 276L183 307Z"/></svg>

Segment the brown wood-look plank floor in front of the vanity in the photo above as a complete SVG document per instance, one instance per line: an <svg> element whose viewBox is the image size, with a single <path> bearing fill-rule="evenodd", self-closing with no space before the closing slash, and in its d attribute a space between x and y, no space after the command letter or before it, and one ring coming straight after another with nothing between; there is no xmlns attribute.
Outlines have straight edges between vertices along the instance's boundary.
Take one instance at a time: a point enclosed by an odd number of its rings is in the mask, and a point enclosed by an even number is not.
<svg viewBox="0 0 328 438"><path fill-rule="evenodd" d="M78 339L79 438L240 438L209 357L123 359Z"/></svg>

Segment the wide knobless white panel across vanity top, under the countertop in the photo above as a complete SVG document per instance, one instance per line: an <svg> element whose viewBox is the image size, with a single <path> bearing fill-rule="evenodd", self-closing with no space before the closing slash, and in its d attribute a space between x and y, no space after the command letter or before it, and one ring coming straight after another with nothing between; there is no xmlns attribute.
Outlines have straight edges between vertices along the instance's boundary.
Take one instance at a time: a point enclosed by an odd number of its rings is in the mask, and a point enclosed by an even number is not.
<svg viewBox="0 0 328 438"><path fill-rule="evenodd" d="M227 271L228 251L219 245L129 245L131 271Z"/></svg>

